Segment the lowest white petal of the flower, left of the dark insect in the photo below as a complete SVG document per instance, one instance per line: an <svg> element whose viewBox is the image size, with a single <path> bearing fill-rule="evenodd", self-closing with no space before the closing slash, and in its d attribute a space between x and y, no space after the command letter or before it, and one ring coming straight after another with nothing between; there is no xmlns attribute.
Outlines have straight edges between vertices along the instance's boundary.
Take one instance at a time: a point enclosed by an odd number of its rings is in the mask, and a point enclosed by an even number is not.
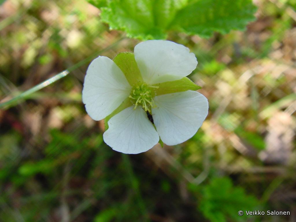
<svg viewBox="0 0 296 222"><path fill-rule="evenodd" d="M137 154L151 149L159 136L148 120L146 112L138 107L128 107L108 121L109 128L103 138L112 149L128 154Z"/></svg>

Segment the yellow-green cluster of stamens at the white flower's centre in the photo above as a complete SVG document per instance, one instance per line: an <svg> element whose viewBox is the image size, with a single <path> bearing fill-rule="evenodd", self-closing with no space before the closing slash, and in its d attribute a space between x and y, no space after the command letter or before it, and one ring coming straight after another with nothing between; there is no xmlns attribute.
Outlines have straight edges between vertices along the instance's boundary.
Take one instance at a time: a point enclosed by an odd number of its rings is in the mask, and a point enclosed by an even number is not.
<svg viewBox="0 0 296 222"><path fill-rule="evenodd" d="M153 88L159 88L159 86L150 86L143 83L132 88L129 98L131 98L133 104L135 104L134 109L137 108L138 104L142 104L143 109L148 112L151 112L151 108L156 107L152 98L152 96L155 95Z"/></svg>

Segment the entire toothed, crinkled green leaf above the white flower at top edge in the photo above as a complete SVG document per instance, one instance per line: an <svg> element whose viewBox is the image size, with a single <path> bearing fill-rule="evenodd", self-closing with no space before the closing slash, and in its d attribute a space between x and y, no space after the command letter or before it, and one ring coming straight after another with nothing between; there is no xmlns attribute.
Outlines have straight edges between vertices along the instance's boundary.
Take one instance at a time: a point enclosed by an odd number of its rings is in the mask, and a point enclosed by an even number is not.
<svg viewBox="0 0 296 222"><path fill-rule="evenodd" d="M111 29L129 37L165 39L170 30L210 37L214 31L242 30L255 19L251 0L88 0L101 8Z"/></svg>

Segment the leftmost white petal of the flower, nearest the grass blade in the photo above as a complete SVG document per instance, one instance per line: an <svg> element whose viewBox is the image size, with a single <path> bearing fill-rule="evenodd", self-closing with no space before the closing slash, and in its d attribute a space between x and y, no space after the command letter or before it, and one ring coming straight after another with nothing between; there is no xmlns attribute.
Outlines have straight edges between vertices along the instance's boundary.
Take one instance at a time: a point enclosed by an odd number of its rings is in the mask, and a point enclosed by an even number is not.
<svg viewBox="0 0 296 222"><path fill-rule="evenodd" d="M94 120L111 114L129 95L131 86L119 67L99 56L89 65L84 78L82 101Z"/></svg>

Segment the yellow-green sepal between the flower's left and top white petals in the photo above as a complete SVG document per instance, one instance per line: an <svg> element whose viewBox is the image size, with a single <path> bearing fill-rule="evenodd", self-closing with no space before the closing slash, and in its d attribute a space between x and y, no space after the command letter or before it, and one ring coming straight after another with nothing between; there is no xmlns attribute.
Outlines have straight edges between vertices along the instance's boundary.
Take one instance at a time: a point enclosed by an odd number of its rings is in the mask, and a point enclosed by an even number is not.
<svg viewBox="0 0 296 222"><path fill-rule="evenodd" d="M139 85L139 82L143 82L135 55L132 52L120 52L115 56L113 61L123 72L131 86Z"/></svg>

